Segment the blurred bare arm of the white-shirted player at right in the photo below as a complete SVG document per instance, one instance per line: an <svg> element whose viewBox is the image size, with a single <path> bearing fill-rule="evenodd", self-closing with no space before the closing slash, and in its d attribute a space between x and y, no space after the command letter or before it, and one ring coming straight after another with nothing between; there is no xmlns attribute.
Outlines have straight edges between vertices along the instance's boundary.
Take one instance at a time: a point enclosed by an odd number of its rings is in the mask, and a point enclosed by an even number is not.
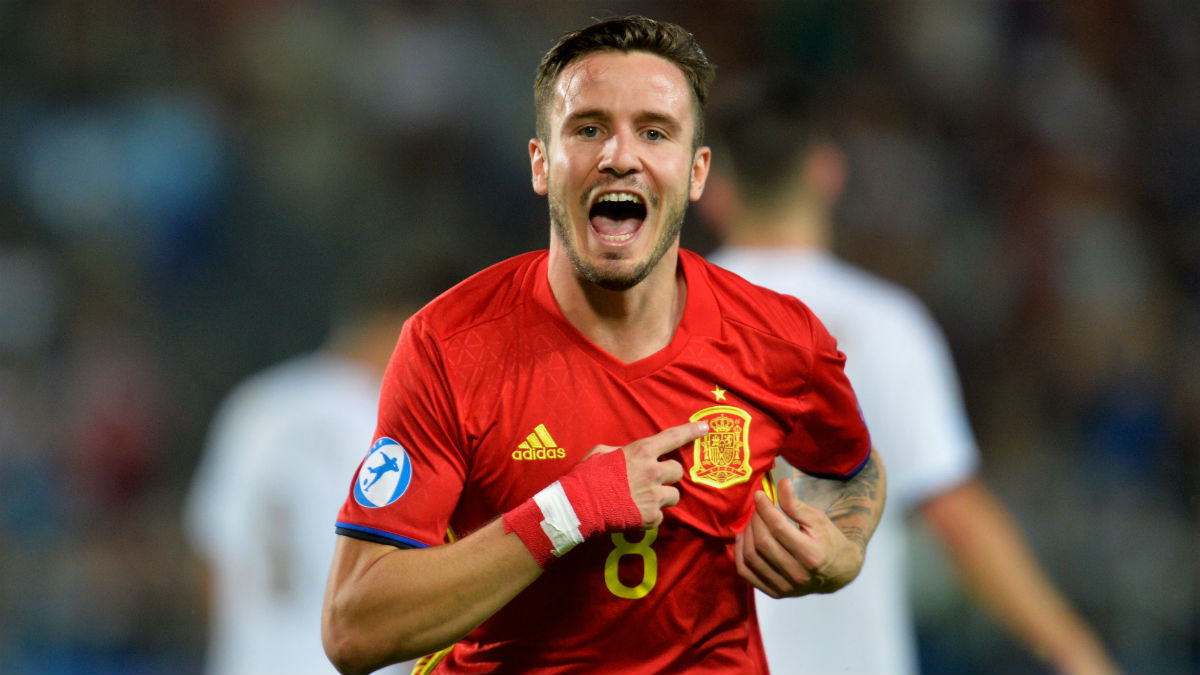
<svg viewBox="0 0 1200 675"><path fill-rule="evenodd" d="M968 482L920 513L946 543L967 590L1031 651L1061 673L1118 670L986 486Z"/></svg>

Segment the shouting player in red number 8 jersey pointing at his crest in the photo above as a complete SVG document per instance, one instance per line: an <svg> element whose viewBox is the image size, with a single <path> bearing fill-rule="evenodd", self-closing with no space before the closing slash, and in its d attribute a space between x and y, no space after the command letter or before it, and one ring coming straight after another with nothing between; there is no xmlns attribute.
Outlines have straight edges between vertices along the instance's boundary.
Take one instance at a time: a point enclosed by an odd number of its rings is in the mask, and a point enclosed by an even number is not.
<svg viewBox="0 0 1200 675"><path fill-rule="evenodd" d="M444 650L424 668L763 673L754 587L858 573L884 477L842 354L799 301L679 249L712 78L690 34L641 17L542 59L550 249L404 325L337 520L340 670ZM834 479L828 513L786 484L772 503L778 455Z"/></svg>

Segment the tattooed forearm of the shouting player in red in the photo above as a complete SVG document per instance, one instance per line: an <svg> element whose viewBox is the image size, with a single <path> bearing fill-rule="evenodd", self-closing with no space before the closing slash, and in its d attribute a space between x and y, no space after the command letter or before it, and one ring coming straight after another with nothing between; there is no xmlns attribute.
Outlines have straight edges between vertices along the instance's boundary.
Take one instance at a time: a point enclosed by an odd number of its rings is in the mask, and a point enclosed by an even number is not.
<svg viewBox="0 0 1200 675"><path fill-rule="evenodd" d="M823 510L865 555L866 543L880 524L887 501L887 472L877 450L871 450L866 465L850 480L797 472L792 485L800 500Z"/></svg>

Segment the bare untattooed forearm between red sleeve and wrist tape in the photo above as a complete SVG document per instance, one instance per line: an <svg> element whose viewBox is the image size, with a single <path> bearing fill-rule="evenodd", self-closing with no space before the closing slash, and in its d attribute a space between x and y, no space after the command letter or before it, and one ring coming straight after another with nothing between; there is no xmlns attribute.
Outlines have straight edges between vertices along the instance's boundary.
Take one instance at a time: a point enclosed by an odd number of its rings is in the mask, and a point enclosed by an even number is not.
<svg viewBox="0 0 1200 675"><path fill-rule="evenodd" d="M322 617L325 651L343 673L424 656L461 639L540 574L499 520L428 549L338 537Z"/></svg>

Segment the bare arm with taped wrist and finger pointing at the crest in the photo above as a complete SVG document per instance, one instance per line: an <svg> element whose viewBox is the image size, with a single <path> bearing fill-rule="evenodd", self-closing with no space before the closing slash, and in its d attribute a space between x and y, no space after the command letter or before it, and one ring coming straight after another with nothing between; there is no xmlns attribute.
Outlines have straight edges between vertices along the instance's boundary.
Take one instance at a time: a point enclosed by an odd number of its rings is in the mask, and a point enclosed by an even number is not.
<svg viewBox="0 0 1200 675"><path fill-rule="evenodd" d="M683 465L662 455L708 432L688 423L617 448L596 446L528 501L443 546L395 549L340 537L322 640L342 673L450 646L588 537L656 527L679 501Z"/></svg>

